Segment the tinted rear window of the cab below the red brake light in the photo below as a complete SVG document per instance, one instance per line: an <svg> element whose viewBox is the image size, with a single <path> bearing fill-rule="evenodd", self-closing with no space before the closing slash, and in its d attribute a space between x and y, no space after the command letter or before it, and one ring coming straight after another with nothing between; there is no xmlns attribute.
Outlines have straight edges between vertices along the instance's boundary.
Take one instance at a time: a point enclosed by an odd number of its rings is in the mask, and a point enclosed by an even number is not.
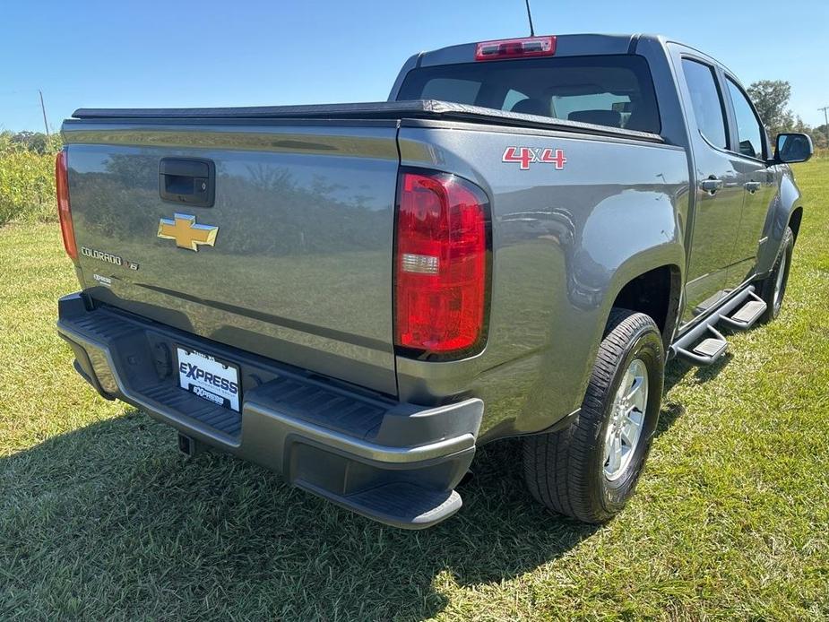
<svg viewBox="0 0 829 622"><path fill-rule="evenodd" d="M659 134L651 72L642 56L562 56L419 67L398 100L443 99Z"/></svg>

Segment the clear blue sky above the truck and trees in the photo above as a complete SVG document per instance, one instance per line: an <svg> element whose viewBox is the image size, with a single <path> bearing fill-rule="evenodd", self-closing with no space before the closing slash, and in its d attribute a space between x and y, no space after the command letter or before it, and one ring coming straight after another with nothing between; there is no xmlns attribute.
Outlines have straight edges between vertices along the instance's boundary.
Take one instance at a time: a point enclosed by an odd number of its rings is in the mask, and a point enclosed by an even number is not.
<svg viewBox="0 0 829 622"><path fill-rule="evenodd" d="M657 32L745 82L785 79L791 108L829 105L826 0L533 0L539 34ZM385 99L412 53L527 33L523 0L4 3L0 129L53 129L75 108ZM822 33L822 34L821 34Z"/></svg>

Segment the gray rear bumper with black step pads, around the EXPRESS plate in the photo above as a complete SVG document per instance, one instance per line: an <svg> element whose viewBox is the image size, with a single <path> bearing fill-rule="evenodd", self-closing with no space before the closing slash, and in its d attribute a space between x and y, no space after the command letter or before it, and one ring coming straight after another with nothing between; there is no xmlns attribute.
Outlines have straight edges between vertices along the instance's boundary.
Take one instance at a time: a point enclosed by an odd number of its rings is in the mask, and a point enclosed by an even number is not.
<svg viewBox="0 0 829 622"><path fill-rule="evenodd" d="M108 399L186 436L280 472L290 483L382 523L421 529L461 507L483 415L470 399L424 407L285 367L108 307L59 301L74 367ZM241 412L179 388L176 345L236 363Z"/></svg>

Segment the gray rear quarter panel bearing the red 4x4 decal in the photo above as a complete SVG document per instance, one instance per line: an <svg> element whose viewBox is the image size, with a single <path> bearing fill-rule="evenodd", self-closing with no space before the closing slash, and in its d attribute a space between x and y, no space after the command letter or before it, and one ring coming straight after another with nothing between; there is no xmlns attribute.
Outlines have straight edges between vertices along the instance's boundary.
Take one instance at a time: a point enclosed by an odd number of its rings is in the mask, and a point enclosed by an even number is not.
<svg viewBox="0 0 829 622"><path fill-rule="evenodd" d="M685 151L538 130L410 125L399 134L403 166L453 172L487 191L493 269L486 349L451 363L398 357L400 397L483 398L483 440L548 428L579 407L618 291L655 267L684 272ZM511 146L561 149L566 164L521 170L502 161Z"/></svg>

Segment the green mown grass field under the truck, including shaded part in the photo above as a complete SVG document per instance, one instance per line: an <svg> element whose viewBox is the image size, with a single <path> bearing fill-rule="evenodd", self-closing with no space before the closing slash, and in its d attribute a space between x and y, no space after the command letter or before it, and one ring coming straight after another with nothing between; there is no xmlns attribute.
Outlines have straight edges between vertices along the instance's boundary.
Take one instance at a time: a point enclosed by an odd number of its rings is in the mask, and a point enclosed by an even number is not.
<svg viewBox="0 0 829 622"><path fill-rule="evenodd" d="M829 618L829 160L781 318L669 366L632 503L594 528L479 454L455 518L370 523L105 402L53 326L56 226L0 229L0 619Z"/></svg>

